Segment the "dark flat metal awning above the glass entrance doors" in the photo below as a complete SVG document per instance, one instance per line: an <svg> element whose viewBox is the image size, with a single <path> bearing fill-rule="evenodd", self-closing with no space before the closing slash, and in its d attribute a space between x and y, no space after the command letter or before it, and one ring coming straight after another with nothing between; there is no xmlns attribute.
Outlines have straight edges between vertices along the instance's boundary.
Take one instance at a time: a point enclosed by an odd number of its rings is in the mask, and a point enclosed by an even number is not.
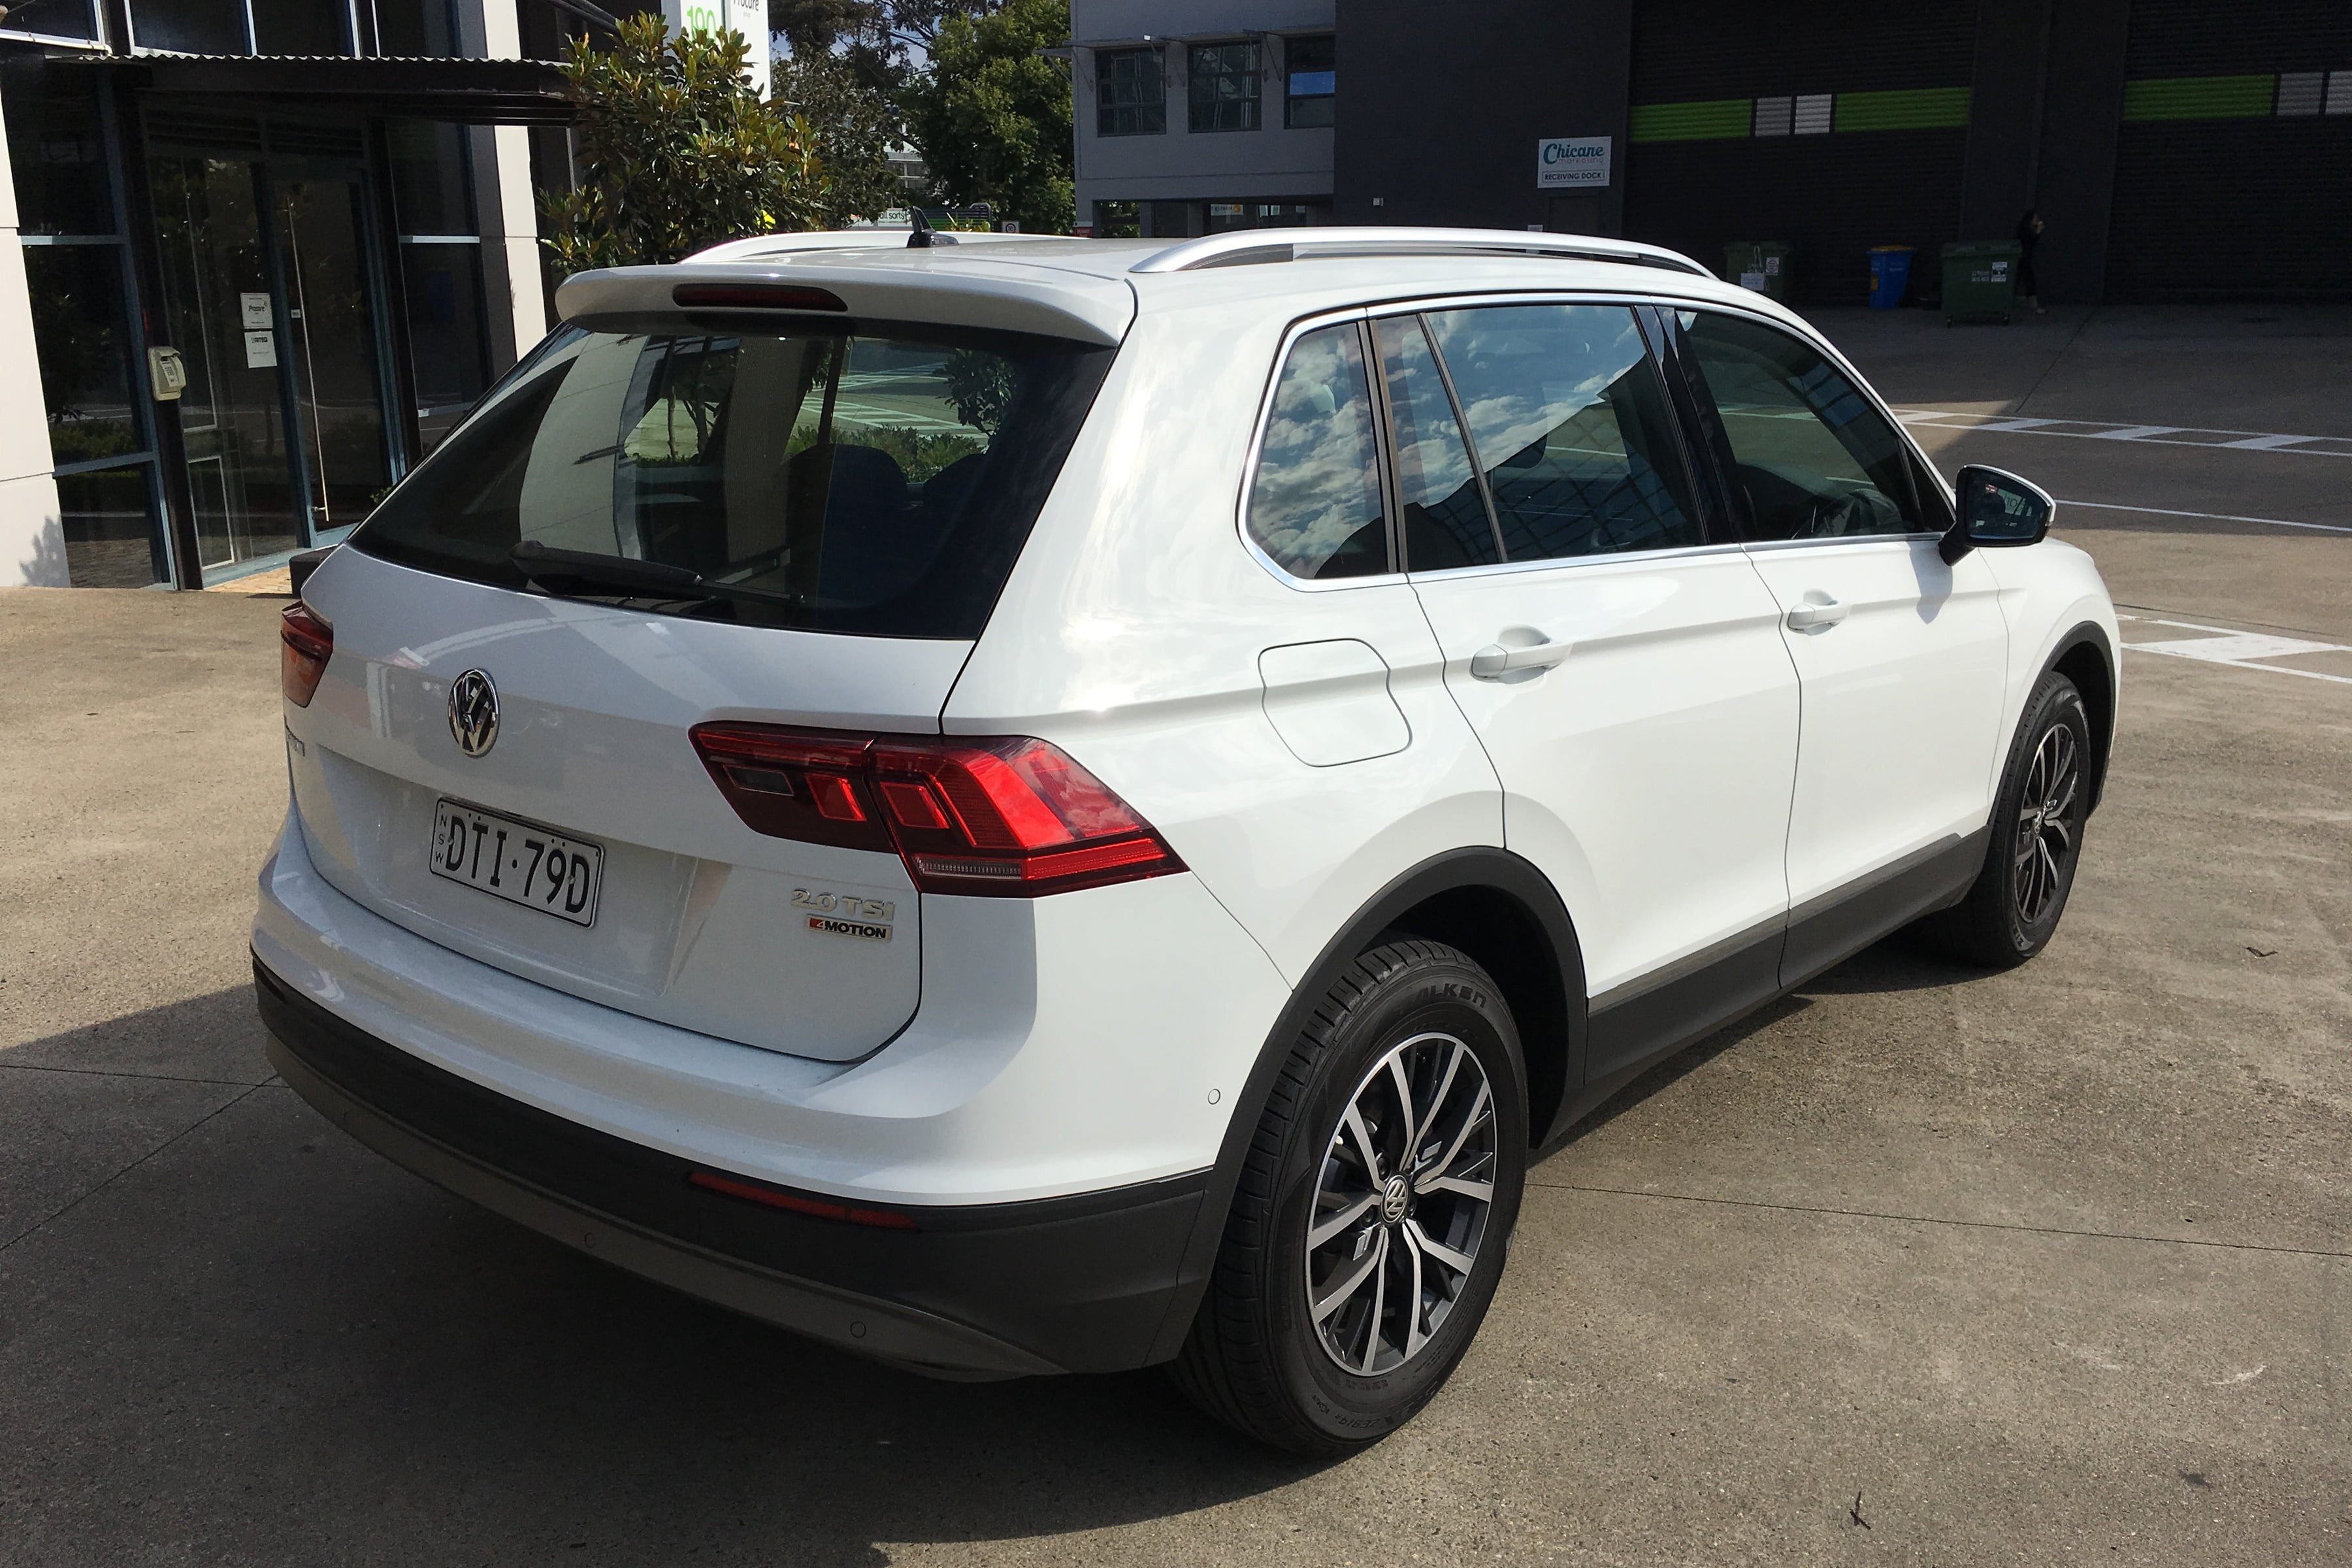
<svg viewBox="0 0 2352 1568"><path fill-rule="evenodd" d="M343 108L466 125L569 125L564 73L541 59L353 59L341 54L59 54L132 87L266 108Z"/></svg>

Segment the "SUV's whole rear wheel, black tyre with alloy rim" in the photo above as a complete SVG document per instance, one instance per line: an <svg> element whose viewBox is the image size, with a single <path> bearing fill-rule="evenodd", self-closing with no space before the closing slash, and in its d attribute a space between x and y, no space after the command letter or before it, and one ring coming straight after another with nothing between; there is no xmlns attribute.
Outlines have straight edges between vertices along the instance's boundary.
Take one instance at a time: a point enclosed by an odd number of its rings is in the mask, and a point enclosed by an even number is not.
<svg viewBox="0 0 2352 1568"><path fill-rule="evenodd" d="M1364 952L1275 1079L1176 1387L1289 1453L1369 1448L1477 1335L1524 1180L1526 1067L1494 980L1439 943Z"/></svg>

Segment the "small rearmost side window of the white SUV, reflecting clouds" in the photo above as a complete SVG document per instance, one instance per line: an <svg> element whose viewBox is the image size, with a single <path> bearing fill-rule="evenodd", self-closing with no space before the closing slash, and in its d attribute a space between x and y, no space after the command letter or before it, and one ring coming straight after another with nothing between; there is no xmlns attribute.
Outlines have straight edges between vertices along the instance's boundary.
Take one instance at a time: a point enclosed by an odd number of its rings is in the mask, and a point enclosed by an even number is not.
<svg viewBox="0 0 2352 1568"><path fill-rule="evenodd" d="M1291 346L1249 487L1249 536L1291 576L1388 571L1378 437L1355 322Z"/></svg>

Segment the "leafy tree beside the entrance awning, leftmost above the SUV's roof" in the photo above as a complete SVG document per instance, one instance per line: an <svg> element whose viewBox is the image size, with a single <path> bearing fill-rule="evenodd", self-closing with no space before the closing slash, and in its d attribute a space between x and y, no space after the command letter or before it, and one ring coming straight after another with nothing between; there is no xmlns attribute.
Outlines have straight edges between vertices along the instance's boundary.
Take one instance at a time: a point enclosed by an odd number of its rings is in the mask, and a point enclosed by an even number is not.
<svg viewBox="0 0 2352 1568"><path fill-rule="evenodd" d="M769 113L743 75L746 56L741 33L670 38L661 16L623 16L609 52L572 42L564 78L581 106L581 186L541 197L546 244L564 273L816 226L816 134Z"/></svg>

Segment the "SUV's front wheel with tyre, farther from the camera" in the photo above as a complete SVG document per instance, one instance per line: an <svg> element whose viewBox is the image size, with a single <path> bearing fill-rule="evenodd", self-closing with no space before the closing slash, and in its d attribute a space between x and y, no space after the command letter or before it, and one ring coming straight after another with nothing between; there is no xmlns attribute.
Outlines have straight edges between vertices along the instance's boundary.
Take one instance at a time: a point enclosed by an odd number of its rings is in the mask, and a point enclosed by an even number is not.
<svg viewBox="0 0 2352 1568"><path fill-rule="evenodd" d="M2051 670L2025 701L2025 719L2009 745L1992 797L1985 870L1955 907L1915 926L1929 947L1985 969L2016 969L2049 947L2082 860L2089 764L2091 717L2082 691Z"/></svg>

